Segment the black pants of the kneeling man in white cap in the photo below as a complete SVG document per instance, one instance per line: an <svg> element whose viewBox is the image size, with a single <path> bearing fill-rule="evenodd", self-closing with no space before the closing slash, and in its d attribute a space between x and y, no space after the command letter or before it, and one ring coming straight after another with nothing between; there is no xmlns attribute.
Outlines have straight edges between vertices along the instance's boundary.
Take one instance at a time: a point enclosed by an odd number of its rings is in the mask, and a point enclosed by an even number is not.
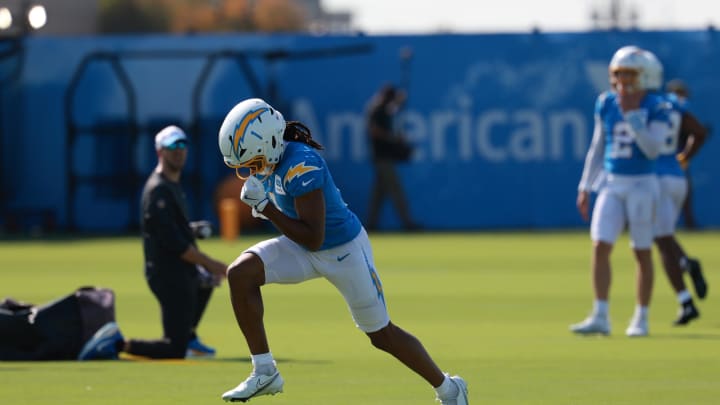
<svg viewBox="0 0 720 405"><path fill-rule="evenodd" d="M160 303L164 336L131 339L129 353L153 359L184 358L213 289L200 287L197 277L187 274L153 275L148 285Z"/></svg>

